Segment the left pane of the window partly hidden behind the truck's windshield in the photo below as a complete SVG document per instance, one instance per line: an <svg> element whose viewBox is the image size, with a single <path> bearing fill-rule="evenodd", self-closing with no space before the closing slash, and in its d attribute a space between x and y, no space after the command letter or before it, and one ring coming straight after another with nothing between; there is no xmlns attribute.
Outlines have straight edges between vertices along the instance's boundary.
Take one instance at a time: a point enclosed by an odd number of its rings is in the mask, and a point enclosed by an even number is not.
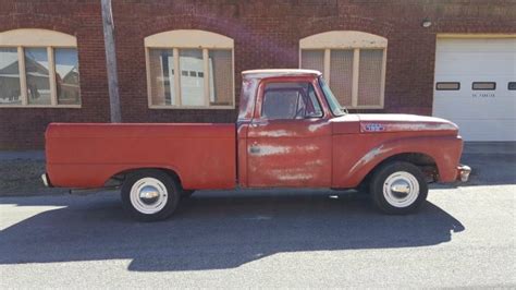
<svg viewBox="0 0 516 290"><path fill-rule="evenodd" d="M342 106L352 106L353 55L351 49L331 51L330 88Z"/></svg>

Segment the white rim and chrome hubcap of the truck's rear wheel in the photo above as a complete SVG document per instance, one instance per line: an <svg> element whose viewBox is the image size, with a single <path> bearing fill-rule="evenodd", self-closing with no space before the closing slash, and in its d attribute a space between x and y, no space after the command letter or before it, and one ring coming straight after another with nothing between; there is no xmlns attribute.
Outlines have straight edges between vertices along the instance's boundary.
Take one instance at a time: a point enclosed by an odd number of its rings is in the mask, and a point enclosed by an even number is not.
<svg viewBox="0 0 516 290"><path fill-rule="evenodd" d="M143 178L131 188L131 204L142 214L160 212L167 205L168 198L167 188L155 178Z"/></svg>

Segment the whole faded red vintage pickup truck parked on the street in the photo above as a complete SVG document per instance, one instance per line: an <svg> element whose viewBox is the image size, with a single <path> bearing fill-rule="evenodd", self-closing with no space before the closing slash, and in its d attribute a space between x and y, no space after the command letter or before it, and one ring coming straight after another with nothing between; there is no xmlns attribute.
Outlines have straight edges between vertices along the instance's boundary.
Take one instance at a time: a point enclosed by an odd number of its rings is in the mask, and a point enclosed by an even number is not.
<svg viewBox="0 0 516 290"><path fill-rule="evenodd" d="M321 73L243 72L235 124L51 123L48 186L120 186L142 220L169 217L195 190L361 189L388 214L411 213L427 182L466 181L463 141L446 120L354 114Z"/></svg>

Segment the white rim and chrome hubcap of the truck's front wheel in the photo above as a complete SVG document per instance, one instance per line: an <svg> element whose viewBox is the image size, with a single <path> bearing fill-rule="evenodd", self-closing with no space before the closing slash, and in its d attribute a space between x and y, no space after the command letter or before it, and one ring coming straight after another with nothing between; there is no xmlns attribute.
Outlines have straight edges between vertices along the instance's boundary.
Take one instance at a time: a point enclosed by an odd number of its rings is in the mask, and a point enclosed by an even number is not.
<svg viewBox="0 0 516 290"><path fill-rule="evenodd" d="M395 207L407 207L416 202L419 195L419 182L406 171L394 172L383 183L385 201Z"/></svg>

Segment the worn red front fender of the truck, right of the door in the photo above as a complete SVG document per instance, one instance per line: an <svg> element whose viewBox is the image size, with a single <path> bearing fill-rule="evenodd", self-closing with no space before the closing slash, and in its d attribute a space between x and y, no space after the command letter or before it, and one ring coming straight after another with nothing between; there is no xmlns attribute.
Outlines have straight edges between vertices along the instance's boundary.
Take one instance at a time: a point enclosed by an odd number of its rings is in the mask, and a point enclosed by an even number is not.
<svg viewBox="0 0 516 290"><path fill-rule="evenodd" d="M430 156L441 182L453 182L462 154L462 138L439 132L337 134L333 136L333 186L355 188L389 157L418 153Z"/></svg>

